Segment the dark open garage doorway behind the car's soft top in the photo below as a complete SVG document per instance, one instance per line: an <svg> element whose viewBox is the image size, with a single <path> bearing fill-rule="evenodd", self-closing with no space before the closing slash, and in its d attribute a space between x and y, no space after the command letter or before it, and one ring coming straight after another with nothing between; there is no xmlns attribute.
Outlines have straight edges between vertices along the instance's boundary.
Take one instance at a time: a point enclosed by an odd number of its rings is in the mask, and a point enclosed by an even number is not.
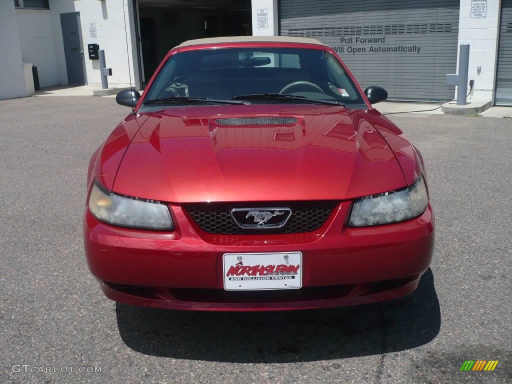
<svg viewBox="0 0 512 384"><path fill-rule="evenodd" d="M250 0L139 0L143 86L167 52L190 39L252 35Z"/></svg>

